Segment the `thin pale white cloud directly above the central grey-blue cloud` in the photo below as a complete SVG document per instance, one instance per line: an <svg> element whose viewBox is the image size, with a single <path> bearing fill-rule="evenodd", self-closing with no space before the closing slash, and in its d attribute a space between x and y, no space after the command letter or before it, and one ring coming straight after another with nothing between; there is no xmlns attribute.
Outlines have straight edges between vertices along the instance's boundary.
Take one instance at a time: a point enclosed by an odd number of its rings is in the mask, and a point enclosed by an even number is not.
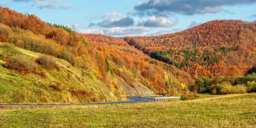
<svg viewBox="0 0 256 128"><path fill-rule="evenodd" d="M104 15L100 15L100 14L90 15L87 18L91 18L91 19L111 19L111 18L115 18L115 17L124 17L124 15L114 11L114 12L106 13Z"/></svg>

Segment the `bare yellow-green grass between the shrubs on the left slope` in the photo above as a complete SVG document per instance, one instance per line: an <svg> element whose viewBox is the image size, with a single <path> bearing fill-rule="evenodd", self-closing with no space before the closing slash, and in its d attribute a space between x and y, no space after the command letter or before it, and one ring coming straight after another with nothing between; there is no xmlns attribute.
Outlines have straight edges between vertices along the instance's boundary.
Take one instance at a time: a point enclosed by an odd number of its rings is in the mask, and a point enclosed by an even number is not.
<svg viewBox="0 0 256 128"><path fill-rule="evenodd" d="M41 54L17 48L22 52L21 58L35 60ZM3 48L0 47L0 53ZM3 53L2 53L3 54ZM53 58L61 67L61 71L43 69L47 72L47 79L29 74L21 76L3 67L4 61L0 60L0 103L77 103L87 102L73 96L69 89L94 91L95 97L100 99L100 94L107 96L108 101L116 101L111 90L100 81L84 77L80 81L80 71L67 61ZM15 82L13 84L12 81ZM60 84L61 91L54 91L51 84ZM69 88L69 89L67 89Z"/></svg>

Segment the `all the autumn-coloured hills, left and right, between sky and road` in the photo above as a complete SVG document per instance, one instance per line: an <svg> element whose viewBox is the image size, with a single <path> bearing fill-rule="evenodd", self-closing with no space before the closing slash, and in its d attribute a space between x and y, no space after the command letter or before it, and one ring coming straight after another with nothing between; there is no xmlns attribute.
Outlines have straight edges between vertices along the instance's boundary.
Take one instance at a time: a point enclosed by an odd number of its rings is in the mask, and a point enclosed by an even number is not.
<svg viewBox="0 0 256 128"><path fill-rule="evenodd" d="M173 34L116 39L79 34L8 8L0 7L0 12L0 71L5 74L0 102L102 102L124 100L125 95L256 91L256 75L245 76L256 71L253 23L214 20ZM26 87L12 88L15 83ZM41 84L45 88L38 93ZM8 89L26 91L6 93ZM14 94L25 98L16 101Z"/></svg>

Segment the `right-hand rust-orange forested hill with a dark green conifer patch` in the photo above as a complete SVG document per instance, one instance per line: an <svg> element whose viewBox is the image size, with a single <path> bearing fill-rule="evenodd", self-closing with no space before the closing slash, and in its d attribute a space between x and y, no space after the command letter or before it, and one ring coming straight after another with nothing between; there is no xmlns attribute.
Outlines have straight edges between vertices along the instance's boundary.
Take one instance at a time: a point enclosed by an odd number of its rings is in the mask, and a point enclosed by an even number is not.
<svg viewBox="0 0 256 128"><path fill-rule="evenodd" d="M256 66L256 24L214 20L173 34L123 38L192 76L245 75Z"/></svg>

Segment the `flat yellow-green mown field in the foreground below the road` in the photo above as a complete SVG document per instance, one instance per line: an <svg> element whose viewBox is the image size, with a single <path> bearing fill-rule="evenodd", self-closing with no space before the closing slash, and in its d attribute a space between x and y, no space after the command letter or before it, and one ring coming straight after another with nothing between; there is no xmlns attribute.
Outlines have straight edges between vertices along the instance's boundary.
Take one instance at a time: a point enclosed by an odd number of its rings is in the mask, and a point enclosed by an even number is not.
<svg viewBox="0 0 256 128"><path fill-rule="evenodd" d="M121 105L0 107L0 127L256 127L256 93Z"/></svg>

